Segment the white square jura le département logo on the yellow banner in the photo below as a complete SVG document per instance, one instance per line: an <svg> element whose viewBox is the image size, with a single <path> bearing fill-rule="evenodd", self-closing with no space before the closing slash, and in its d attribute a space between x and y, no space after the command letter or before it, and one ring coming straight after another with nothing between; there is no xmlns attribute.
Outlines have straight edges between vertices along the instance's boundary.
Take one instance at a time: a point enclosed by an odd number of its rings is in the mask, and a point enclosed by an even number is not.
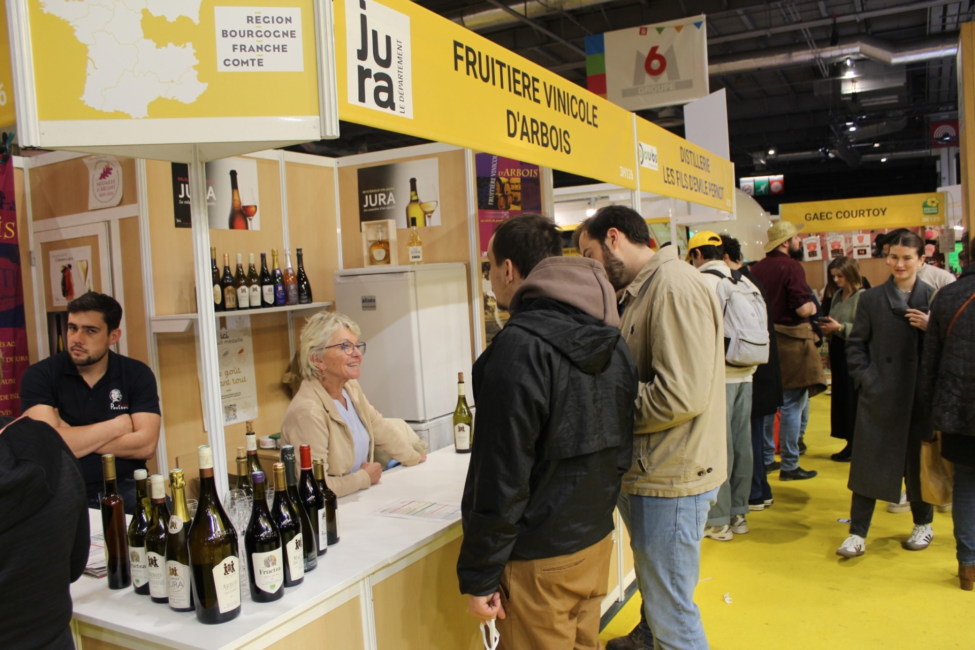
<svg viewBox="0 0 975 650"><path fill-rule="evenodd" d="M374 0L345 0L348 101L412 119L409 16Z"/></svg>

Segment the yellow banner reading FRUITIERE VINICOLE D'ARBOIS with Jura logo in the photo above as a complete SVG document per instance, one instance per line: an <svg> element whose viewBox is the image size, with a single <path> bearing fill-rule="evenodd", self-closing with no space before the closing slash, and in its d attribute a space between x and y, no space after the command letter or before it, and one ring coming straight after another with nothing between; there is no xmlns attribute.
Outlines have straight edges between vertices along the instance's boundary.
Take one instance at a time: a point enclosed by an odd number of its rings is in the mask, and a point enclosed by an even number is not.
<svg viewBox="0 0 975 650"><path fill-rule="evenodd" d="M409 0L336 0L339 117L636 189L633 115Z"/></svg>

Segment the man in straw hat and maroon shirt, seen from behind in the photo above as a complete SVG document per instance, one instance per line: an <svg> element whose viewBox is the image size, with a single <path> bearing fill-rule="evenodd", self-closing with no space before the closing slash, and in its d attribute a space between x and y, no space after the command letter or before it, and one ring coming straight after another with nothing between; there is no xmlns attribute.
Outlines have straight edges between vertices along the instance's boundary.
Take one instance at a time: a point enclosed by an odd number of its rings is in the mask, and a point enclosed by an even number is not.
<svg viewBox="0 0 975 650"><path fill-rule="evenodd" d="M775 334L779 363L782 366L784 403L780 409L779 445L782 463L779 480L813 478L799 466L799 437L802 409L810 395L826 389L823 364L816 351L816 334L809 317L816 313L812 292L805 280L802 259L803 225L778 221L768 229L765 258L756 263L752 274L765 287ZM775 442L772 435L774 416L765 419L765 467L776 469ZM759 462L759 459L756 459Z"/></svg>

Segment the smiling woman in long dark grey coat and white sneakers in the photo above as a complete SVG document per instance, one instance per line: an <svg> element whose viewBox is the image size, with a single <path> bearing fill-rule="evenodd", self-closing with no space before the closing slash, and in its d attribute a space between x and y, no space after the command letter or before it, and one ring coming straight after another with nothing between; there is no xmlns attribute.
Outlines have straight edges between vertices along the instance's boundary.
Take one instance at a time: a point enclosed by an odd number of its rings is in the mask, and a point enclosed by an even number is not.
<svg viewBox="0 0 975 650"><path fill-rule="evenodd" d="M850 536L837 550L845 557L864 554L877 500L899 501L902 478L915 523L905 547L921 551L934 536L934 508L920 496L920 442L931 437L931 423L920 395L919 360L935 291L917 279L923 263L923 240L910 231L899 233L887 255L893 275L861 294L846 342L860 400L847 483L853 491Z"/></svg>

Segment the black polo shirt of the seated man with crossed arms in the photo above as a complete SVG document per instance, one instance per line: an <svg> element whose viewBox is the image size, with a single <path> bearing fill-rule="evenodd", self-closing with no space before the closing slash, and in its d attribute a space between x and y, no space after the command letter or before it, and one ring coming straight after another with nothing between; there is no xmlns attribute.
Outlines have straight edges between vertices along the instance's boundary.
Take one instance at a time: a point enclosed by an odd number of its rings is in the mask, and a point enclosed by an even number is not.
<svg viewBox="0 0 975 650"><path fill-rule="evenodd" d="M159 414L156 377L145 363L108 352L108 368L95 388L78 373L67 352L34 363L20 380L20 406L27 410L35 404L58 409L61 420L71 427L84 427L105 422L122 414ZM101 456L91 453L79 459L89 496L102 490ZM145 461L115 459L115 472L120 480L133 478Z"/></svg>

